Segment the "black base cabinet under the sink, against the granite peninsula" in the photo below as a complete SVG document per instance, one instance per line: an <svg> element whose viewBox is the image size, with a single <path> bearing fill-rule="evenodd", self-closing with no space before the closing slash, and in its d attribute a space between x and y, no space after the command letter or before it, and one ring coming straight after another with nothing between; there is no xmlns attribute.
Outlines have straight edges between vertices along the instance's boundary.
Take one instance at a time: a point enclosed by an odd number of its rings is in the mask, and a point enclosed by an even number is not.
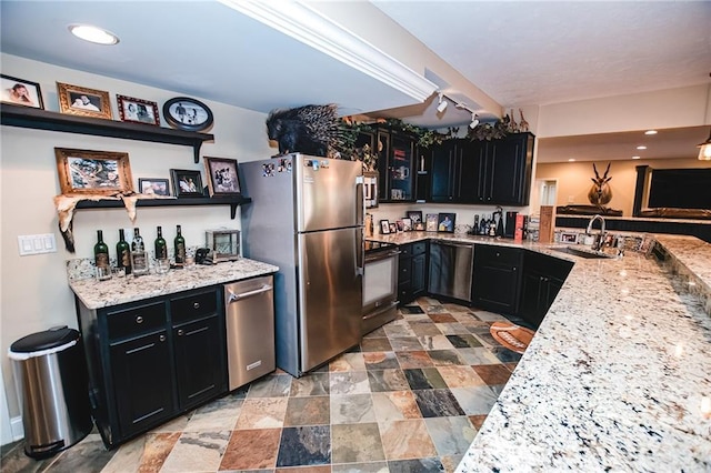
<svg viewBox="0 0 711 473"><path fill-rule="evenodd" d="M527 322L541 323L572 266L570 261L525 251L519 314Z"/></svg>

